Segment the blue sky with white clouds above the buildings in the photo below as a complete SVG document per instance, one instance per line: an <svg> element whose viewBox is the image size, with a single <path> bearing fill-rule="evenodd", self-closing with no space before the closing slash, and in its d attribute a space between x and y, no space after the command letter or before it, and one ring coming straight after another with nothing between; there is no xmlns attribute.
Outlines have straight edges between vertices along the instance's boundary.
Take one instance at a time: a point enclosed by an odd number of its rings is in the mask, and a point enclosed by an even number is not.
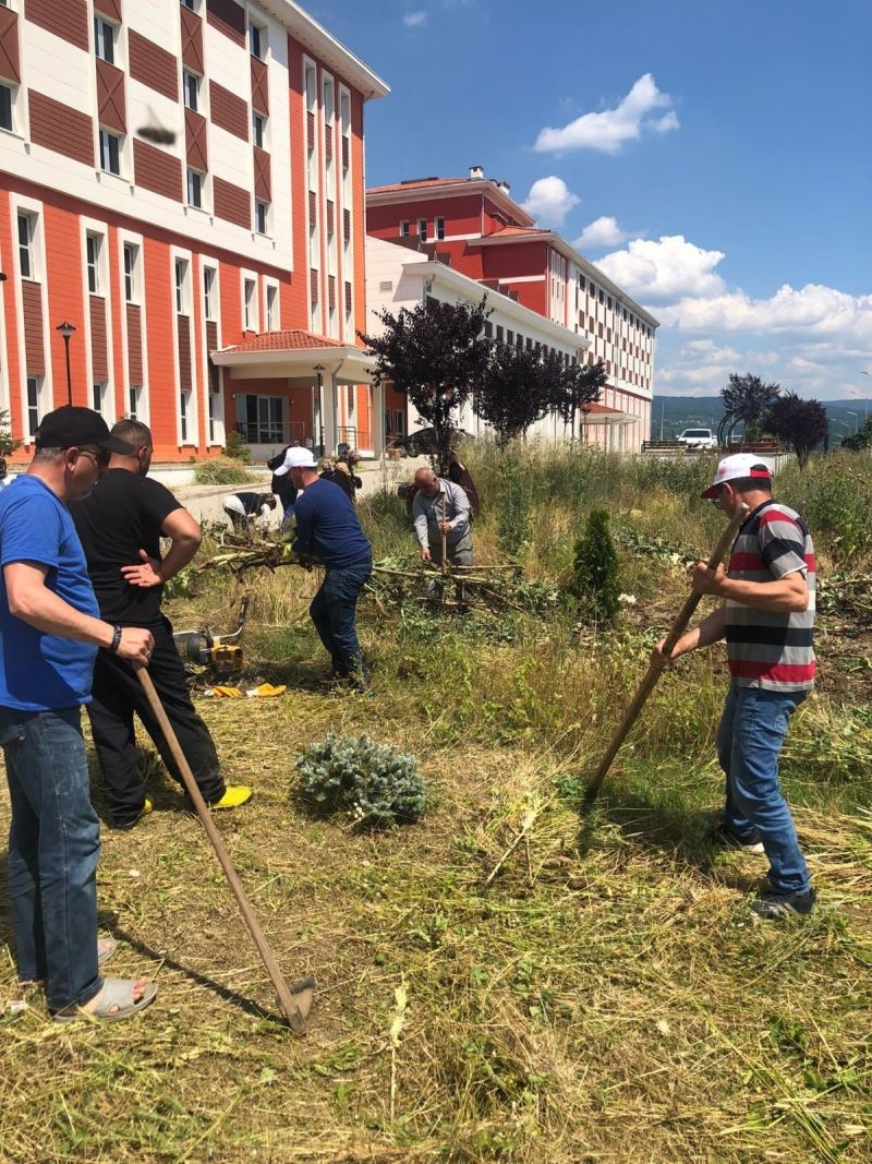
<svg viewBox="0 0 872 1164"><path fill-rule="evenodd" d="M870 0L303 6L391 86L367 184L508 182L662 321L656 393L872 395Z"/></svg>

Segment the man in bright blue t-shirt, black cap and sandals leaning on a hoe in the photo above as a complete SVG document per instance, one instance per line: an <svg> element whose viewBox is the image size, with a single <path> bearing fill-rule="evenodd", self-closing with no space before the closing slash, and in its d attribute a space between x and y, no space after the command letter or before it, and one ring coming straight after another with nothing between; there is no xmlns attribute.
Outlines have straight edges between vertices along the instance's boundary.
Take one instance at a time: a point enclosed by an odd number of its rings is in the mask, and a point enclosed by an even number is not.
<svg viewBox="0 0 872 1164"><path fill-rule="evenodd" d="M66 503L97 484L113 452L90 409L45 416L26 474L0 494L0 744L12 824L9 903L22 984L45 981L56 1021L114 1020L153 1001L142 979L101 978L100 823L91 807L80 707L98 648L145 666L151 632L102 622Z"/></svg>

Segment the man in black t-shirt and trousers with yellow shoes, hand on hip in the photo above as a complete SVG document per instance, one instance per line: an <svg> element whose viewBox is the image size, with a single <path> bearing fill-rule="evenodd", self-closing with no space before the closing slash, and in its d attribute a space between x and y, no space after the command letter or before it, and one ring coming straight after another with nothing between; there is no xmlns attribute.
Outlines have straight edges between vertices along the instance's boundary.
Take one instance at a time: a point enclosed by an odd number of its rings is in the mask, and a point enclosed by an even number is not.
<svg viewBox="0 0 872 1164"><path fill-rule="evenodd" d="M120 420L112 432L131 447L131 453L113 453L99 485L72 506L100 611L110 623L151 632L155 650L149 674L203 800L213 808L236 808L250 799L251 789L224 785L209 730L191 702L172 626L160 611L164 583L200 548L200 526L169 489L146 476L152 448L150 430L138 420ZM171 540L163 561L160 538ZM109 823L116 829L133 828L143 812L151 810L136 762L134 714L170 774L181 783L181 773L136 673L123 660L102 652L94 667L88 716L106 781Z"/></svg>

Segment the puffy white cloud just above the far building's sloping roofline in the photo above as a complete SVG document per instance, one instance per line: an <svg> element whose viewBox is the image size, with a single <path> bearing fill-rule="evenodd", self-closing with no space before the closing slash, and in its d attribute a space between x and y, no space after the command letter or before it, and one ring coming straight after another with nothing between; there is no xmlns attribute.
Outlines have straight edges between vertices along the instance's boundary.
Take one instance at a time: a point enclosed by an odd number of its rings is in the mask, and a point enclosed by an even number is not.
<svg viewBox="0 0 872 1164"><path fill-rule="evenodd" d="M723 279L715 268L723 257L722 250L703 250L676 234L656 240L635 239L626 250L612 251L598 260L596 265L634 299L681 299L722 292Z"/></svg>

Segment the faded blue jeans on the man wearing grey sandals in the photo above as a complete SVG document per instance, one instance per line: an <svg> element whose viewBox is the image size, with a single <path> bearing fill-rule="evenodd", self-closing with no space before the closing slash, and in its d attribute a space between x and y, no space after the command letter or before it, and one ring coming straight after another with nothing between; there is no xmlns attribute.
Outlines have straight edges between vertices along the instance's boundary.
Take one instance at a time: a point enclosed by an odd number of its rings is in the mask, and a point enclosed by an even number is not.
<svg viewBox="0 0 872 1164"><path fill-rule="evenodd" d="M45 979L51 1010L88 1002L97 968L100 822L91 807L79 708L0 708L9 826L9 904L21 981Z"/></svg>

